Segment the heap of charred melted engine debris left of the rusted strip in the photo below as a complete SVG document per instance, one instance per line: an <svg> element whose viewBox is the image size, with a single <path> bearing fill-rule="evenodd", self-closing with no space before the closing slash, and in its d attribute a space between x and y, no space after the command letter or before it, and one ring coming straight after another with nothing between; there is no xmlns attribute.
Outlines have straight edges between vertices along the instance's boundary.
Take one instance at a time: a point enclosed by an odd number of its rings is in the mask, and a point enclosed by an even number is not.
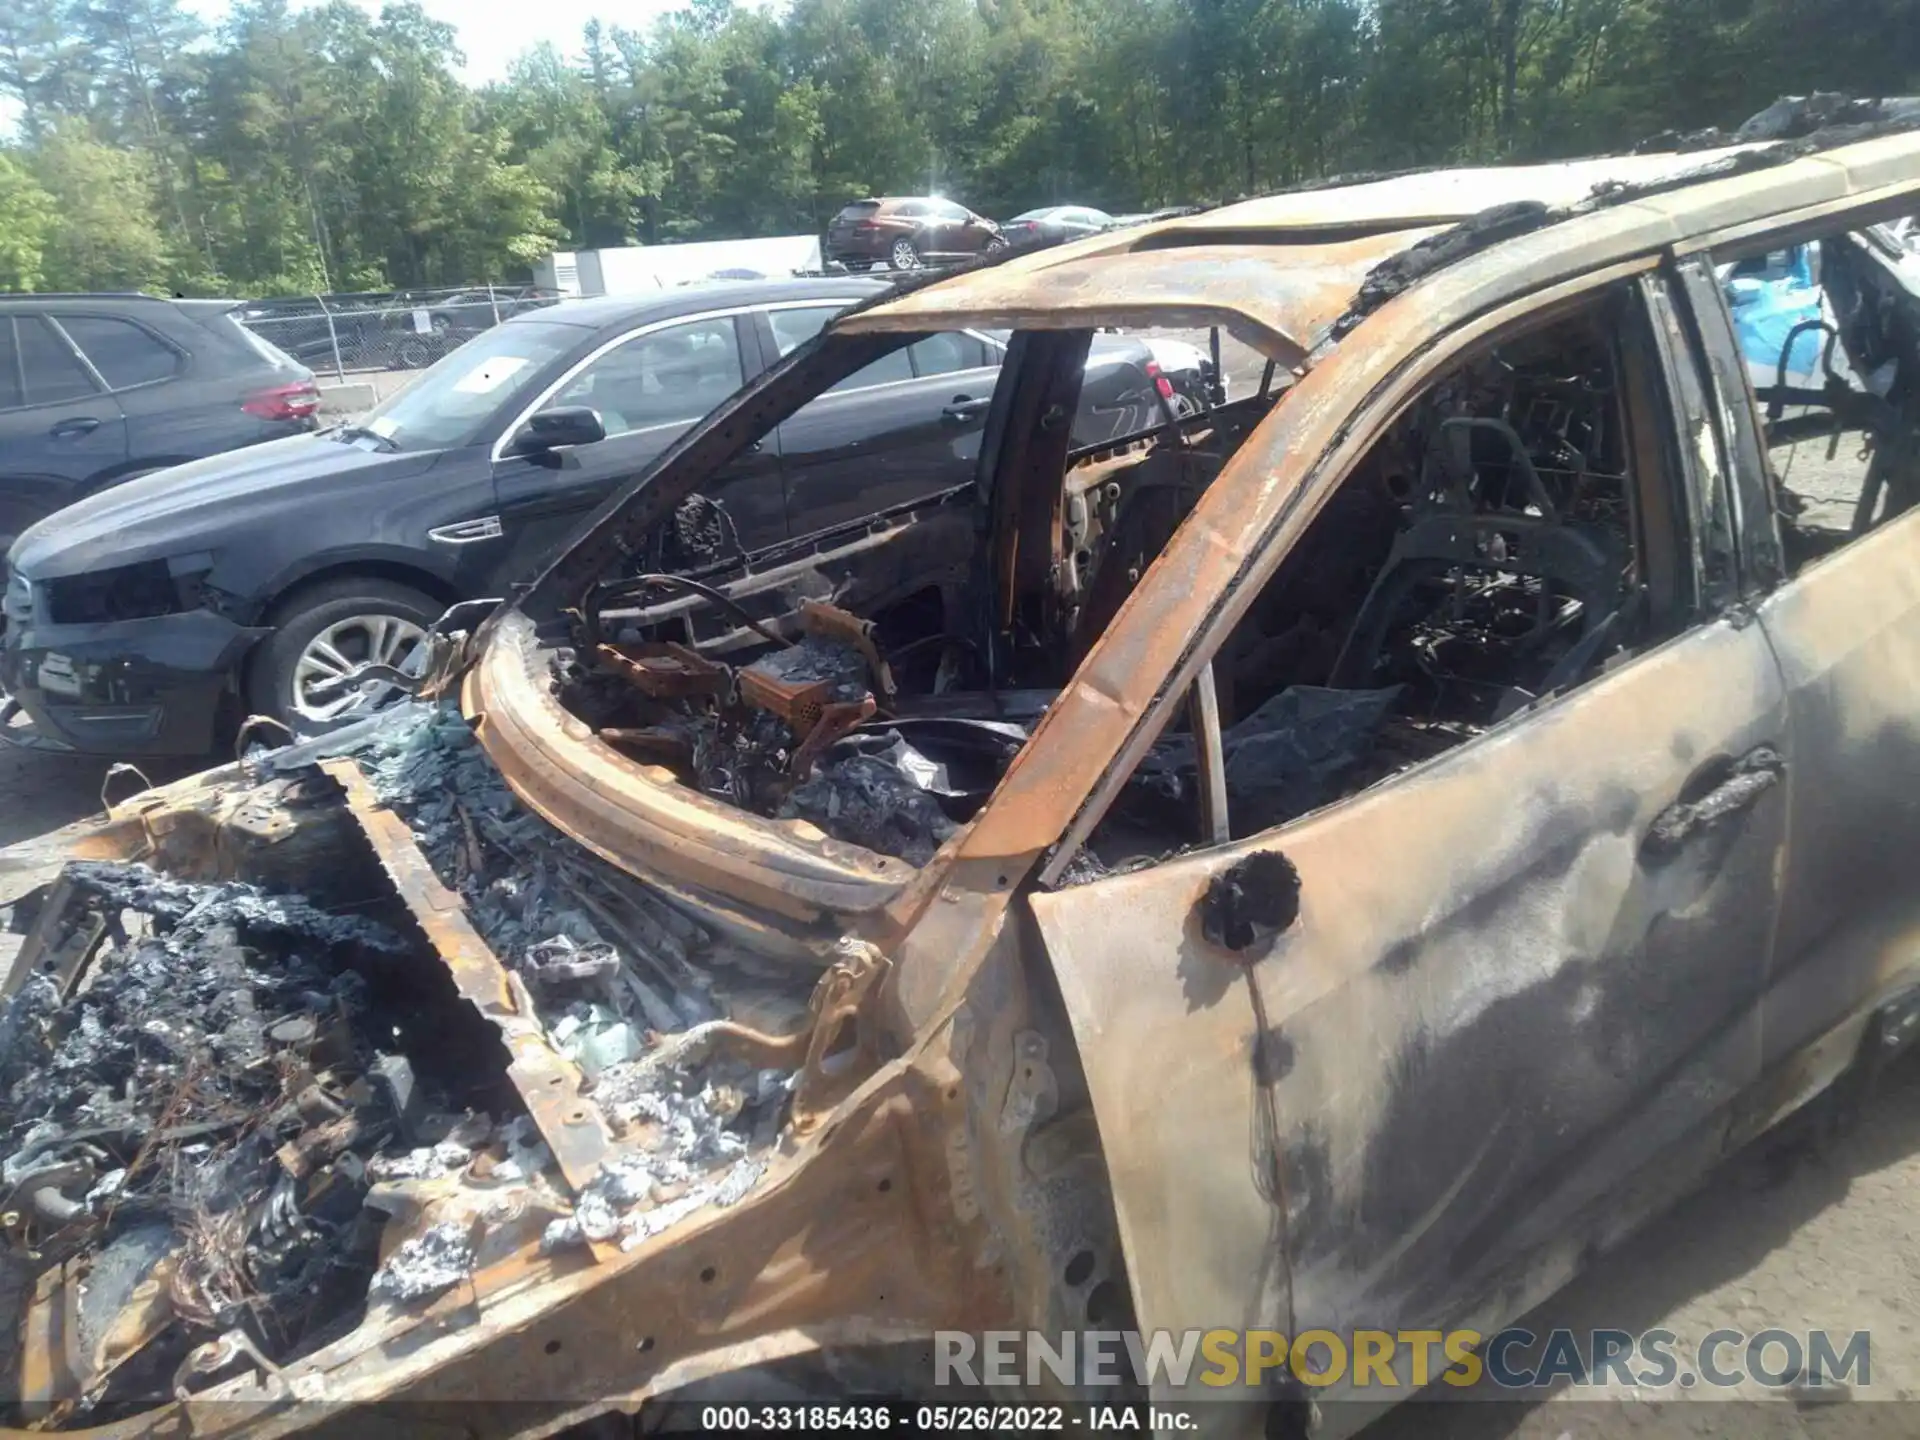
<svg viewBox="0 0 1920 1440"><path fill-rule="evenodd" d="M167 1256L167 1323L111 1382L171 1394L190 1342L242 1325L286 1354L365 1298L367 1171L396 1129L365 1077L403 1023L376 1021L376 985L407 943L242 883L98 862L63 881L54 920L106 935L0 1006L0 1183L40 1267L88 1258L88 1323L117 1313L109 1261Z"/></svg>

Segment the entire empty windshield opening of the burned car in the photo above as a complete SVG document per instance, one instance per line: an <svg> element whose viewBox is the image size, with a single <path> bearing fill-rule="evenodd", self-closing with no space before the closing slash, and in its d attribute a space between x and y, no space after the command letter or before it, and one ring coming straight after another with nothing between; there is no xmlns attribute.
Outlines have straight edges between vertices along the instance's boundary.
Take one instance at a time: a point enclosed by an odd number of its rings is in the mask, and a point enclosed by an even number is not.
<svg viewBox="0 0 1920 1440"><path fill-rule="evenodd" d="M1235 397L1206 332L889 340L762 430L778 501L737 463L662 495L541 636L616 753L918 866L1279 392ZM745 543L770 503L783 538Z"/></svg>

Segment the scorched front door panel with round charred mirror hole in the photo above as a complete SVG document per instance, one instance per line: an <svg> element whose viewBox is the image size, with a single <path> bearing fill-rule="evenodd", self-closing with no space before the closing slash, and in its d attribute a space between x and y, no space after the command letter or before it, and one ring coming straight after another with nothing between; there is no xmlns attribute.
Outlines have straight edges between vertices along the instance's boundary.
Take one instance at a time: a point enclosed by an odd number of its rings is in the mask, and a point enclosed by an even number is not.
<svg viewBox="0 0 1920 1440"><path fill-rule="evenodd" d="M1269 835L1035 895L1140 1325L1513 1315L1586 1202L1709 1164L1684 1139L1759 1069L1784 787L1645 837L1757 747L1791 758L1780 672L1722 622ZM1260 849L1300 916L1236 956L1198 906Z"/></svg>

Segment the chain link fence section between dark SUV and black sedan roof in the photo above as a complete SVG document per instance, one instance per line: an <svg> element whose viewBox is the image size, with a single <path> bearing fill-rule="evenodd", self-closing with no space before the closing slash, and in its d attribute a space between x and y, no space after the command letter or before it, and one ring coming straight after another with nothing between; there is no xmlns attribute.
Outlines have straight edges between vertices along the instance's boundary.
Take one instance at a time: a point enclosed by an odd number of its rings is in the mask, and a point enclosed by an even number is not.
<svg viewBox="0 0 1920 1440"><path fill-rule="evenodd" d="M467 286L253 300L240 321L319 374L420 371L509 315L553 305L538 286Z"/></svg>

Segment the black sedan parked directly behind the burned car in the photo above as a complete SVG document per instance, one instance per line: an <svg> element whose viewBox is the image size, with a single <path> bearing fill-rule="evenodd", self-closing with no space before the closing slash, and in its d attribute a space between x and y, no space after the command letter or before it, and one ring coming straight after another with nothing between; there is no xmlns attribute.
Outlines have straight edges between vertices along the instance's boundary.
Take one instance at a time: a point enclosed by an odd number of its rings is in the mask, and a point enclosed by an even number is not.
<svg viewBox="0 0 1920 1440"><path fill-rule="evenodd" d="M13 547L0 685L36 737L205 753L242 712L324 726L361 660L399 662L451 601L499 593L693 420L889 280L580 300L488 328L351 426L180 467ZM787 419L712 497L758 549L966 484L1006 336L885 355ZM1073 436L1206 403L1192 346L1102 336ZM722 524L718 518L714 524ZM326 699L317 699L326 695Z"/></svg>

